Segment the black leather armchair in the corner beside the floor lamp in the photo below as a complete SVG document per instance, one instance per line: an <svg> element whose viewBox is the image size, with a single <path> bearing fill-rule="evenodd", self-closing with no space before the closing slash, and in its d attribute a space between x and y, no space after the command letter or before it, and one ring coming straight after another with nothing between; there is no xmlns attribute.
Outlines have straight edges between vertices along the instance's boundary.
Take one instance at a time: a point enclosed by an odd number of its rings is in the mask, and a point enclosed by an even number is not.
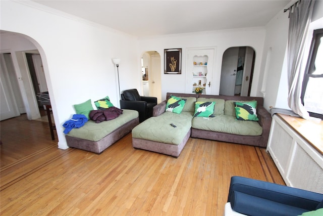
<svg viewBox="0 0 323 216"><path fill-rule="evenodd" d="M120 108L137 110L139 121L152 116L152 108L157 105L157 98L140 96L136 89L125 90L121 94Z"/></svg>

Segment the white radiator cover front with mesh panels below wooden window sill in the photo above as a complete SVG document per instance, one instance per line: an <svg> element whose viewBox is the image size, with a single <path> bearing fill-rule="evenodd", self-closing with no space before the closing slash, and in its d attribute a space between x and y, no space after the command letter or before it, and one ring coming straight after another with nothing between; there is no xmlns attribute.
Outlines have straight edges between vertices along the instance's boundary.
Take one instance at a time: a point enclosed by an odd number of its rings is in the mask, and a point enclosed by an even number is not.
<svg viewBox="0 0 323 216"><path fill-rule="evenodd" d="M281 119L273 116L267 151L286 185L323 193L323 156Z"/></svg>

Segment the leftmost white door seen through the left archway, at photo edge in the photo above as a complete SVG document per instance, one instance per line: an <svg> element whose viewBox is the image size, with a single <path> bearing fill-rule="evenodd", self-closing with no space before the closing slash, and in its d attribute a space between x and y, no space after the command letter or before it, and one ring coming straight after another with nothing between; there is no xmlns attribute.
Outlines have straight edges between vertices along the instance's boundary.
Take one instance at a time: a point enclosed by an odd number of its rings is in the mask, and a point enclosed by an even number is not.
<svg viewBox="0 0 323 216"><path fill-rule="evenodd" d="M1 54L1 78L0 78L0 120L5 120L15 116L19 116L19 110L16 101L14 100L13 89L11 86L8 69L4 59L4 54Z"/></svg>

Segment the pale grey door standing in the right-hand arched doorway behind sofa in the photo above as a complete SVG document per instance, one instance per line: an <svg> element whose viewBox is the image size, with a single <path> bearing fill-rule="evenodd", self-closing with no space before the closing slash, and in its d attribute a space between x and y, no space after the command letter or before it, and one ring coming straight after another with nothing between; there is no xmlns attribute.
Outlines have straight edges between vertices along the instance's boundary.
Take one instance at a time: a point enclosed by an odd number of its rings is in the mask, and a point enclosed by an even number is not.
<svg viewBox="0 0 323 216"><path fill-rule="evenodd" d="M229 48L223 54L220 95L234 96L239 48Z"/></svg>

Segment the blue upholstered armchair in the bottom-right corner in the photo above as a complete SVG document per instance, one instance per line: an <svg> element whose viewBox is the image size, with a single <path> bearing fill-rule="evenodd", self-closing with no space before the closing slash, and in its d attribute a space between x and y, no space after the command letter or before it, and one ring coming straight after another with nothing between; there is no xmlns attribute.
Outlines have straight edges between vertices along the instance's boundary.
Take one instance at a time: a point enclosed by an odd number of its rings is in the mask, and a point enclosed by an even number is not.
<svg viewBox="0 0 323 216"><path fill-rule="evenodd" d="M323 215L323 194L234 176L224 215Z"/></svg>

